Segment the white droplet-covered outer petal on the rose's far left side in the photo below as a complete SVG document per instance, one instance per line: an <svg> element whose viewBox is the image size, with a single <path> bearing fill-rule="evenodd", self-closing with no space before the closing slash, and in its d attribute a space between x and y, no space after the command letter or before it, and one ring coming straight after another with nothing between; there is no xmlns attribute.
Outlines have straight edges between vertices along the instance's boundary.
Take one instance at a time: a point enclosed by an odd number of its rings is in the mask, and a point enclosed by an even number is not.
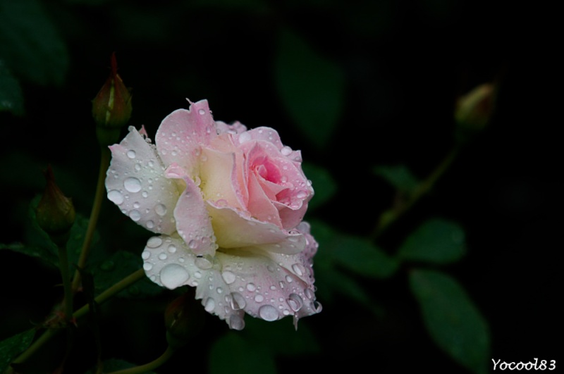
<svg viewBox="0 0 564 374"><path fill-rule="evenodd" d="M131 126L121 143L109 148L112 157L106 172L108 199L147 230L174 232L173 209L180 194L175 182L164 177L154 147Z"/></svg>

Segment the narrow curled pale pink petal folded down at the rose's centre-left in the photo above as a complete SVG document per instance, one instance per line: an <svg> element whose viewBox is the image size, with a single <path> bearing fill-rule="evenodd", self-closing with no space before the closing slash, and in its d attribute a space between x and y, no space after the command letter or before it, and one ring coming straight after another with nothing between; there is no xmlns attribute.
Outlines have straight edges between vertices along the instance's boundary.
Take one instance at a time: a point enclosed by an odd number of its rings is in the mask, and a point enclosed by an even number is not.
<svg viewBox="0 0 564 374"><path fill-rule="evenodd" d="M216 237L200 188L176 163L168 166L166 177L185 182L184 192L174 208L178 235L193 253L213 255L217 249Z"/></svg>

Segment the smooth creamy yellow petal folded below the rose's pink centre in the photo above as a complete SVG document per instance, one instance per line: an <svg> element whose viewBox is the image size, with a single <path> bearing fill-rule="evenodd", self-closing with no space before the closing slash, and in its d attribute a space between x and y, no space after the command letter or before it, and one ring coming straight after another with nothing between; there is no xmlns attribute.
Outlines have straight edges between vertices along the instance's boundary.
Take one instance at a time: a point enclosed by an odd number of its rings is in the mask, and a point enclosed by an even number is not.
<svg viewBox="0 0 564 374"><path fill-rule="evenodd" d="M273 223L245 216L228 206L217 206L207 201L209 216L216 232L217 244L222 249L255 247L281 254L297 254L305 248L305 237L300 232L288 232Z"/></svg>

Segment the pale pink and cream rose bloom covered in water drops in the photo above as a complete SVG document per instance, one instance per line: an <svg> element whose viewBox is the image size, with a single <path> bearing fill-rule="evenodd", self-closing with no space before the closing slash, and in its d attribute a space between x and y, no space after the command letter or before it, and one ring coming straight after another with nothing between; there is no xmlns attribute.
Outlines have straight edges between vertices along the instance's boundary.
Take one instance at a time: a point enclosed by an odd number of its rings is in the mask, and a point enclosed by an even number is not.
<svg viewBox="0 0 564 374"><path fill-rule="evenodd" d="M160 234L142 258L150 280L196 287L204 308L244 327L318 313L312 257L317 242L302 222L311 183L300 151L269 127L215 122L207 101L161 123L155 144L145 128L110 147L108 198Z"/></svg>

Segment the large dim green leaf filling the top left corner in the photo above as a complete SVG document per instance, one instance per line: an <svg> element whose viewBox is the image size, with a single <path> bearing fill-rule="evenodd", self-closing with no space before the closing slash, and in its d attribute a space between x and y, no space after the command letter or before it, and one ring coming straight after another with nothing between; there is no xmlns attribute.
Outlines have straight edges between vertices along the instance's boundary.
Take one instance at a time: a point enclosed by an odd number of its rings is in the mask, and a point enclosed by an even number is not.
<svg viewBox="0 0 564 374"><path fill-rule="evenodd" d="M20 77L61 85L68 51L39 1L0 1L0 58Z"/></svg>

